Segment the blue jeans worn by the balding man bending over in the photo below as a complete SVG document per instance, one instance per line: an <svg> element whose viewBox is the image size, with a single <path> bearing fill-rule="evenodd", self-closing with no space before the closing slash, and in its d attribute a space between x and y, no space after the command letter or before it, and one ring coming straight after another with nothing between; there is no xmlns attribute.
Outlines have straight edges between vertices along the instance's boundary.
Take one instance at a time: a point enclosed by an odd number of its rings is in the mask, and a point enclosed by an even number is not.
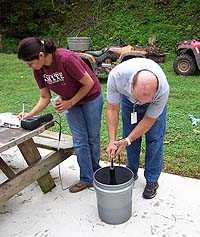
<svg viewBox="0 0 200 237"><path fill-rule="evenodd" d="M121 108L124 137L127 137L137 126L139 121L142 120L148 105L149 104L135 105L135 112L137 112L137 123L131 124L131 113L133 112L134 104L131 103L125 96L122 96ZM156 119L153 126L145 134L146 152L144 176L147 182L156 182L161 174L163 166L163 142L166 128L166 113L167 108L165 107L162 114ZM137 174L139 168L141 141L142 137L136 139L126 149L128 161L127 167L129 167L134 174Z"/></svg>

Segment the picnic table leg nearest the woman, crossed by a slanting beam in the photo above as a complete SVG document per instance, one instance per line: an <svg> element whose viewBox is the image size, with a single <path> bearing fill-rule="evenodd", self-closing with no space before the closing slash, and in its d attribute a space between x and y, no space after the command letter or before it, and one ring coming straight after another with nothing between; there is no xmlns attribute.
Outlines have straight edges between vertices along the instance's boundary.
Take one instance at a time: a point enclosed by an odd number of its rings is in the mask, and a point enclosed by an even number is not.
<svg viewBox="0 0 200 237"><path fill-rule="evenodd" d="M29 166L42 158L32 138L19 144L18 147ZM49 192L56 186L49 171L47 171L46 175L39 178L37 182L44 193Z"/></svg>

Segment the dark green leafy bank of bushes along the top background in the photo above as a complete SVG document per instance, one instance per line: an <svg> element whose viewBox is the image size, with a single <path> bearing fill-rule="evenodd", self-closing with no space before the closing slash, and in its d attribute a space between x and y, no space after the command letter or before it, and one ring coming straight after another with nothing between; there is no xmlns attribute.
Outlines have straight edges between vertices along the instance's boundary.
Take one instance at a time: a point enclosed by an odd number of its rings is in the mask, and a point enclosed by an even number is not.
<svg viewBox="0 0 200 237"><path fill-rule="evenodd" d="M0 33L6 38L6 51L16 49L19 39L33 35L53 38L64 47L68 36L90 36L93 48L106 47L118 39L146 45L155 35L166 51L173 51L179 40L200 38L197 1L1 2Z"/></svg>

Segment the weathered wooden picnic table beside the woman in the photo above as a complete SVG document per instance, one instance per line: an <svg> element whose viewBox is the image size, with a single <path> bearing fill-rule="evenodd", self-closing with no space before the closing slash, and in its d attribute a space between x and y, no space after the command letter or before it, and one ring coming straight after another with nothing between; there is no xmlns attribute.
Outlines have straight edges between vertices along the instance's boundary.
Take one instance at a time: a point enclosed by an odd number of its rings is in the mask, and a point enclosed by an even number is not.
<svg viewBox="0 0 200 237"><path fill-rule="evenodd" d="M71 136L65 135L58 150L57 133L45 131L53 125L54 121L51 121L33 131L0 127L0 169L8 178L0 184L0 205L36 180L44 193L55 187L49 171L73 154L73 143ZM1 157L2 152L14 146L19 148L28 165L19 173ZM50 149L50 153L41 157L38 147Z"/></svg>

